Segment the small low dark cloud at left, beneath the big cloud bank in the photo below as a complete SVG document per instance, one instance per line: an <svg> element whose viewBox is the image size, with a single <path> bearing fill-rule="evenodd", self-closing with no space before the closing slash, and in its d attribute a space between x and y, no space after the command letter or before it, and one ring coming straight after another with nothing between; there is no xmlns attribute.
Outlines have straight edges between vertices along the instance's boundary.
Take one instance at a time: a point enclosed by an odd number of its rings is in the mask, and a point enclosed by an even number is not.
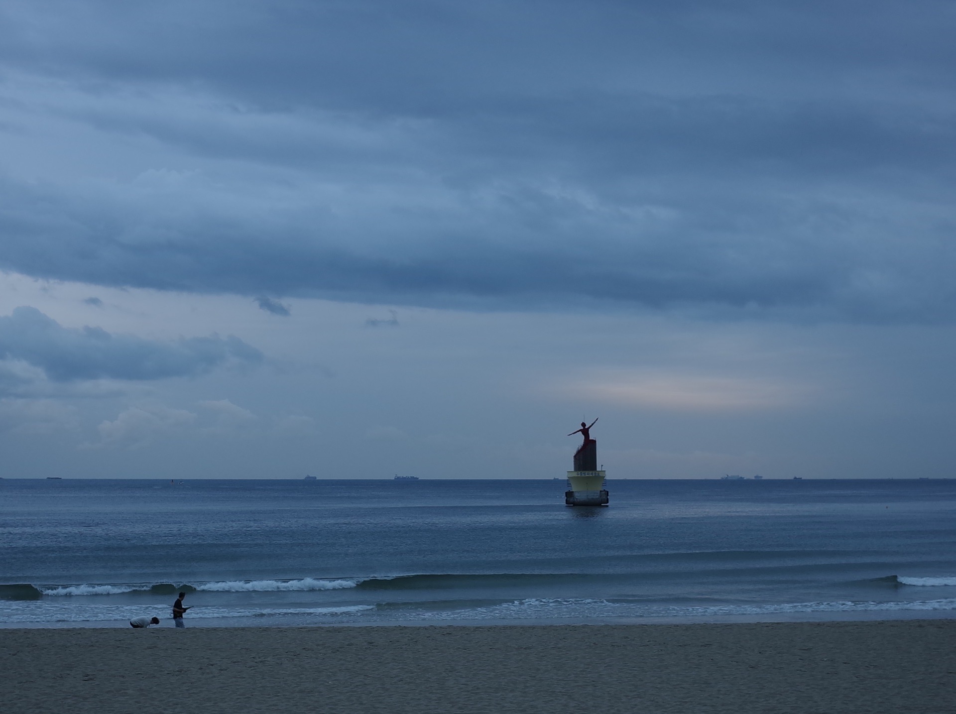
<svg viewBox="0 0 956 714"><path fill-rule="evenodd" d="M0 316L0 358L42 369L54 381L192 377L227 362L258 364L262 353L229 335L155 342L98 327L65 328L35 308Z"/></svg>

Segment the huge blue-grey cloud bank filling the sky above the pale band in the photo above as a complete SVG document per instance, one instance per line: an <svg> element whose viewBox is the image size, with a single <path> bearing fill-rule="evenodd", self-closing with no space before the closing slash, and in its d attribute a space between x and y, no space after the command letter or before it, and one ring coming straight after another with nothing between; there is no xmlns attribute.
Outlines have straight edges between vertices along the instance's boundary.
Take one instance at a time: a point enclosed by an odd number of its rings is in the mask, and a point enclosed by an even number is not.
<svg viewBox="0 0 956 714"><path fill-rule="evenodd" d="M6 12L8 125L184 167L11 168L8 270L475 309L956 316L945 4Z"/></svg>

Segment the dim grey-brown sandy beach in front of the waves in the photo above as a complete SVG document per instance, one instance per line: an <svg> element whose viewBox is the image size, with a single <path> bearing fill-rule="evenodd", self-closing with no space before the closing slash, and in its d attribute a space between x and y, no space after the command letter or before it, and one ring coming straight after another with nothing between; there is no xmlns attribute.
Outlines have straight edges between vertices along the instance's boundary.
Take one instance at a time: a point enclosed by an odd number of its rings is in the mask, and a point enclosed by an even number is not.
<svg viewBox="0 0 956 714"><path fill-rule="evenodd" d="M8 714L956 711L956 620L163 626L0 639Z"/></svg>

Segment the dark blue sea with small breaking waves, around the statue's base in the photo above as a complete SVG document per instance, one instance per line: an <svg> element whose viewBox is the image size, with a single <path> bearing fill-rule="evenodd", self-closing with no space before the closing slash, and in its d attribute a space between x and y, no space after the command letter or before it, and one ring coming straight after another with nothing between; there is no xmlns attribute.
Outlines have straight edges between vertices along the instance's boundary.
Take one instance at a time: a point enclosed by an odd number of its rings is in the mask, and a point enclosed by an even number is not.
<svg viewBox="0 0 956 714"><path fill-rule="evenodd" d="M956 617L956 480L0 480L0 627Z"/></svg>

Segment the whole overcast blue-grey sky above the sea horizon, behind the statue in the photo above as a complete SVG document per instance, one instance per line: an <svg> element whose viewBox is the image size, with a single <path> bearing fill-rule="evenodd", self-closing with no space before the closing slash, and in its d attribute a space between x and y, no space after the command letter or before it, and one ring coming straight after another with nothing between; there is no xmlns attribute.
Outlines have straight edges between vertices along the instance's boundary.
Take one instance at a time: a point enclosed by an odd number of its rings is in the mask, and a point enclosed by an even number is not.
<svg viewBox="0 0 956 714"><path fill-rule="evenodd" d="M0 475L956 476L954 36L0 0Z"/></svg>

